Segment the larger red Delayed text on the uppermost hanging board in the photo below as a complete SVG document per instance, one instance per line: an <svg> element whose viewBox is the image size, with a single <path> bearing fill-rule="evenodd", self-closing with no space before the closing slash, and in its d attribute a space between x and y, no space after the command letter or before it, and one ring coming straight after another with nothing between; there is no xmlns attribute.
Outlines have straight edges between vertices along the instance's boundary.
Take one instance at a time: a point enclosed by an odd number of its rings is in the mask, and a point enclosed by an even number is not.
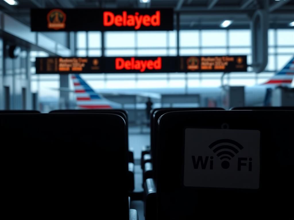
<svg viewBox="0 0 294 220"><path fill-rule="evenodd" d="M114 15L111 11L103 12L103 26L127 26L134 27L135 30L141 28L141 26L160 26L160 11L156 11L154 15L140 15L139 12L135 12L135 15L128 14L127 11L123 11L122 15Z"/></svg>

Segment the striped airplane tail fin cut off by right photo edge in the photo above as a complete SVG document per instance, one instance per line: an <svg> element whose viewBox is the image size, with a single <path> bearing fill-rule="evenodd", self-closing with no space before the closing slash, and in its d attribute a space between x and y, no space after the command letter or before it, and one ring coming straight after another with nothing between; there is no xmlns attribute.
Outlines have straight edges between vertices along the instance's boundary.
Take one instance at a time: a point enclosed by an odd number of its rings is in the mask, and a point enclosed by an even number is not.
<svg viewBox="0 0 294 220"><path fill-rule="evenodd" d="M291 58L280 72L277 72L264 84L287 85L290 86L294 77L294 57Z"/></svg>

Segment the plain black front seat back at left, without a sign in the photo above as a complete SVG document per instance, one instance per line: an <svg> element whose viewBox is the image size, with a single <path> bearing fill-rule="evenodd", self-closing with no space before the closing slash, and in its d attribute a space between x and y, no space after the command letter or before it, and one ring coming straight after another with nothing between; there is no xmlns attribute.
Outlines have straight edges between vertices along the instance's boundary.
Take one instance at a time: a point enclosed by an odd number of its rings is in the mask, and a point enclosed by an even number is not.
<svg viewBox="0 0 294 220"><path fill-rule="evenodd" d="M136 219L121 116L0 114L0 129L3 208L10 216Z"/></svg>

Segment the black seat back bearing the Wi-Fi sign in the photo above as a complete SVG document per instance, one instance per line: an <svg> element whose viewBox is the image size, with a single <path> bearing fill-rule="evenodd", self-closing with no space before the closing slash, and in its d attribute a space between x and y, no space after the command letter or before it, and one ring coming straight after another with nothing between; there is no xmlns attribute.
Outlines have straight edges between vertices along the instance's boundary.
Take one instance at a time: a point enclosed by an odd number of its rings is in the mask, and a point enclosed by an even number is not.
<svg viewBox="0 0 294 220"><path fill-rule="evenodd" d="M292 216L293 111L163 114L157 219Z"/></svg>

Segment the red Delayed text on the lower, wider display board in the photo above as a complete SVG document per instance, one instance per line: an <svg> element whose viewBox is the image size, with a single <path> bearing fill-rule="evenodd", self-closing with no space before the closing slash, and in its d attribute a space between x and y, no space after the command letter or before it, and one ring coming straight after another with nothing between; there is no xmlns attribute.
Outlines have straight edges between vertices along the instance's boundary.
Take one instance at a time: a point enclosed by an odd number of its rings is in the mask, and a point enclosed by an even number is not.
<svg viewBox="0 0 294 220"><path fill-rule="evenodd" d="M161 70L161 67L161 57L157 57L156 60L135 60L135 57L131 57L131 60L125 60L122 57L115 59L116 70L139 70L144 72L146 69Z"/></svg>

